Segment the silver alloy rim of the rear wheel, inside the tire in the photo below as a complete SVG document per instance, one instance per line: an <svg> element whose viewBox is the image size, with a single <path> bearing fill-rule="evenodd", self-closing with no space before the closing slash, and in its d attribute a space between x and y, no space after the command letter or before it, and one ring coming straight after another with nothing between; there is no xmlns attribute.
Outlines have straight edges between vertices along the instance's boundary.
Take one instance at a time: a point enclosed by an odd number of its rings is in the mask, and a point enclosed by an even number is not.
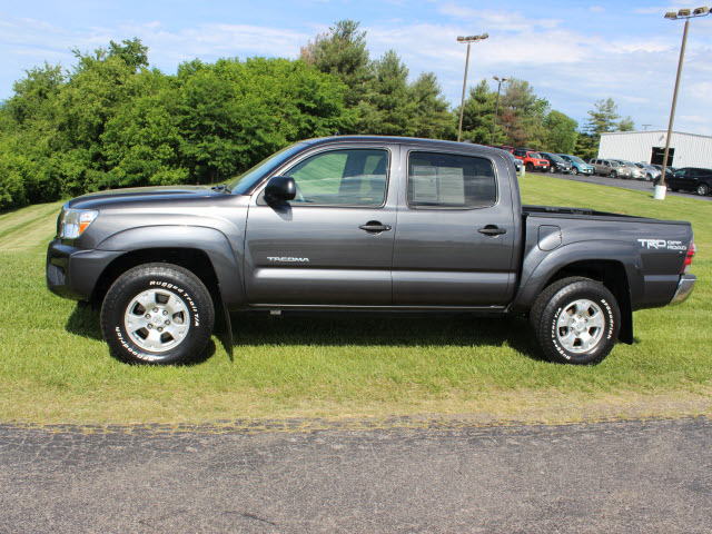
<svg viewBox="0 0 712 534"><path fill-rule="evenodd" d="M564 307L556 322L556 339L570 353L586 353L599 345L604 329L603 310L584 298Z"/></svg>

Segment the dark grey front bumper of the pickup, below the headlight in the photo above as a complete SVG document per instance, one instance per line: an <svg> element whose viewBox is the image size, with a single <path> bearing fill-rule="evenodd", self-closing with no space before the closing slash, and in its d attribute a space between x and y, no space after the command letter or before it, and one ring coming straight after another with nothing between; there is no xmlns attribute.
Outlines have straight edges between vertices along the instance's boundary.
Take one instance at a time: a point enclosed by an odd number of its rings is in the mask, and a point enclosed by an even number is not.
<svg viewBox="0 0 712 534"><path fill-rule="evenodd" d="M86 250L55 239L47 248L47 288L72 300L89 300L107 266L123 253Z"/></svg>

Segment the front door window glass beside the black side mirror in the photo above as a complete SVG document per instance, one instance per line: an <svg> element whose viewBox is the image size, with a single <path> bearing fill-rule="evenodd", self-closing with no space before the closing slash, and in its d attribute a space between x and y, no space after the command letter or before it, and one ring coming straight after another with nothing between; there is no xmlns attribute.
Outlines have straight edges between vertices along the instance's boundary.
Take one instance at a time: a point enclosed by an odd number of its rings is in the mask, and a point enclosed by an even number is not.
<svg viewBox="0 0 712 534"><path fill-rule="evenodd" d="M297 184L289 204L383 206L386 198L386 150L330 150L293 167L285 176Z"/></svg>

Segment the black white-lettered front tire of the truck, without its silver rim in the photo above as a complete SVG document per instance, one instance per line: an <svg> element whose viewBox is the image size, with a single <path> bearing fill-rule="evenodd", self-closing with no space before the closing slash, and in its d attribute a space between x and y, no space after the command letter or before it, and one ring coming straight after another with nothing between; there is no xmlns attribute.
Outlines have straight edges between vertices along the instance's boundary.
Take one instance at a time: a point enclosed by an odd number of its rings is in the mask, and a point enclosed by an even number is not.
<svg viewBox="0 0 712 534"><path fill-rule="evenodd" d="M146 290L165 289L180 297L188 308L190 328L185 339L167 352L138 346L126 330L126 310ZM136 267L109 288L101 307L101 329L111 352L125 362L170 365L199 356L212 333L212 301L205 285L190 271L177 266Z"/></svg>

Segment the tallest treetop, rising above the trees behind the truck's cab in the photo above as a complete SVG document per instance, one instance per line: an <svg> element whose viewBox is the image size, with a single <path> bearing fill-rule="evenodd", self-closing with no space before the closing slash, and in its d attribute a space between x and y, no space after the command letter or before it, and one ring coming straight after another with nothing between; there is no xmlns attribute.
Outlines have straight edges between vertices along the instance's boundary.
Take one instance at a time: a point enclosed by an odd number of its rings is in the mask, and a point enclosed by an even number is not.
<svg viewBox="0 0 712 534"><path fill-rule="evenodd" d="M327 75L337 76L348 88L344 93L347 107L357 106L374 77L374 66L366 48L366 32L360 22L339 20L326 33L319 33L301 47L300 58Z"/></svg>

